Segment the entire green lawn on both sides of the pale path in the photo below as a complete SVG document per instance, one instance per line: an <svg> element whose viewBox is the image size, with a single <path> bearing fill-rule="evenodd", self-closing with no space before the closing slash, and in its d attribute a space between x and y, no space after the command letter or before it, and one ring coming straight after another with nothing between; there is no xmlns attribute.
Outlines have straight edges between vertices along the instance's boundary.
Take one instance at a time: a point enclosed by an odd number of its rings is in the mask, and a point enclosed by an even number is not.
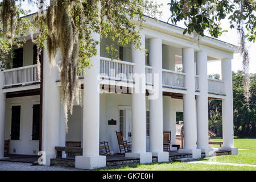
<svg viewBox="0 0 256 182"><path fill-rule="evenodd" d="M221 141L216 138L214 141ZM222 155L213 158L205 158L199 160L208 160L214 162L225 163L240 163L256 165L256 138L237 138L234 139L234 146L238 148L246 148L249 150L240 150L238 155ZM213 146L217 147L217 146ZM256 170L256 167L240 167L228 165L213 165L213 164L191 164L191 163L151 163L151 164L131 164L125 167L109 167L101 170L111 171L139 171L139 170L154 170L154 171L247 171Z"/></svg>

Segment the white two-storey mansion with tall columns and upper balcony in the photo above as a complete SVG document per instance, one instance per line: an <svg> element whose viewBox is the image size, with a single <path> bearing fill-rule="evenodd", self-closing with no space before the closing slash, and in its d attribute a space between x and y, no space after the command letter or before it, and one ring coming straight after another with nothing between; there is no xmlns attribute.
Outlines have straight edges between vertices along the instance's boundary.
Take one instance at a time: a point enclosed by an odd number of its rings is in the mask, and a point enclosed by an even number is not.
<svg viewBox="0 0 256 182"><path fill-rule="evenodd" d="M184 118L184 147L179 152L201 158L201 152L212 154L208 100L222 100L223 146L219 150L237 154L238 148L233 146L231 69L237 47L206 36L197 42L191 35L183 35L180 27L145 19L141 42L148 56L133 45L117 45L120 60L111 60L105 51L111 40L93 34L100 41L98 55L92 57L93 67L86 69L86 75L78 75L82 106L73 107L68 133L60 101L59 70L49 68L47 49L40 58L41 81L31 40L15 49L13 68L0 71L0 158L5 140L10 140L9 154L37 155L44 151L49 165L50 159L56 158L56 146L76 141L82 147L82 155L75 159L77 168L104 167L106 156L99 155L99 142L109 142L112 154L118 153L115 131L121 131L132 143L126 157L151 163L152 156L157 156L158 162L167 162L163 131L171 130L171 144L175 144L176 112L183 112ZM212 61L221 61L221 79L208 78L207 65ZM183 72L176 67L182 67ZM137 88L141 88L139 92Z"/></svg>

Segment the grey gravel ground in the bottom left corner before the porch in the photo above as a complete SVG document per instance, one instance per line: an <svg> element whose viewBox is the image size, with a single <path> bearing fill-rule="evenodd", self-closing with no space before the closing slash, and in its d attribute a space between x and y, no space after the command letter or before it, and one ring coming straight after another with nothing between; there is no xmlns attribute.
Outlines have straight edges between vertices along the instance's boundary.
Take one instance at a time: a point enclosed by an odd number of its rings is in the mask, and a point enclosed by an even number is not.
<svg viewBox="0 0 256 182"><path fill-rule="evenodd" d="M31 163L0 161L0 171L77 171L76 168L59 166L40 166Z"/></svg>

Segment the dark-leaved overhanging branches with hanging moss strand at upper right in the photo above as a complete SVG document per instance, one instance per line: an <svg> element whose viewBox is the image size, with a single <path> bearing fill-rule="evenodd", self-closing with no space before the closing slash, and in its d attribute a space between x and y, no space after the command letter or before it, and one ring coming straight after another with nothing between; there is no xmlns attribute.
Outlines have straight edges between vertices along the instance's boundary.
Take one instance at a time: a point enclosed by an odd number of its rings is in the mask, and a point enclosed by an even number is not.
<svg viewBox="0 0 256 182"><path fill-rule="evenodd" d="M250 98L249 53L246 39L250 42L256 40L256 1L255 0L171 0L171 22L184 21L183 34L194 34L197 38L204 36L208 31L213 38L221 36L221 20L229 19L230 28L237 28L240 35L240 52L243 64L243 94L246 101Z"/></svg>

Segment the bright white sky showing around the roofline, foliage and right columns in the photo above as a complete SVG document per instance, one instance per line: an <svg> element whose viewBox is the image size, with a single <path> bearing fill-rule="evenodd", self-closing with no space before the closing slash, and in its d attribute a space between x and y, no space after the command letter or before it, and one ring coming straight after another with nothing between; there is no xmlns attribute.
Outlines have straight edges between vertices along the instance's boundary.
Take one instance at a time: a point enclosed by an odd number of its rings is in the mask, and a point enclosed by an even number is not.
<svg viewBox="0 0 256 182"><path fill-rule="evenodd" d="M161 3L163 4L163 6L160 8L160 10L162 11L162 16L160 17L160 20L167 22L168 18L171 15L170 6L167 5L167 3L171 2L171 0L154 0L154 1L158 2L159 4ZM28 5L26 1L22 4L22 7L23 9L27 9L27 10L31 9L31 6ZM35 11L36 9L33 10L32 13L34 13ZM224 32L218 39L238 46L239 35L237 34L237 30L229 28L229 20L227 18L223 20L221 23L222 23L221 24L222 29L228 30L228 32ZM182 22L178 23L177 26L184 28L184 24ZM247 44L247 48L249 51L249 58L250 58L249 72L256 73L256 43L246 42L246 44ZM232 60L232 71L237 72L239 69L242 69L242 57L240 56L240 53L236 53L234 54L234 59ZM214 63L208 63L208 75L216 74L216 73L221 75L221 62L216 61Z"/></svg>

